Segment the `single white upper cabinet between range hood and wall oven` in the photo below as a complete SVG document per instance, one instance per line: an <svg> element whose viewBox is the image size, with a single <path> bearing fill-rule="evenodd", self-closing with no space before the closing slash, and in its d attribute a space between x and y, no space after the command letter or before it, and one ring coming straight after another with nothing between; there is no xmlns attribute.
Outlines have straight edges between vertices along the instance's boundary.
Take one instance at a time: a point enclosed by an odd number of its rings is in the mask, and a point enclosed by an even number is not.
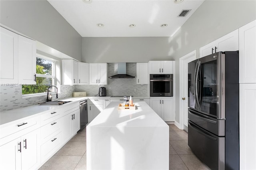
<svg viewBox="0 0 256 170"><path fill-rule="evenodd" d="M148 84L148 63L137 63L137 84Z"/></svg>

